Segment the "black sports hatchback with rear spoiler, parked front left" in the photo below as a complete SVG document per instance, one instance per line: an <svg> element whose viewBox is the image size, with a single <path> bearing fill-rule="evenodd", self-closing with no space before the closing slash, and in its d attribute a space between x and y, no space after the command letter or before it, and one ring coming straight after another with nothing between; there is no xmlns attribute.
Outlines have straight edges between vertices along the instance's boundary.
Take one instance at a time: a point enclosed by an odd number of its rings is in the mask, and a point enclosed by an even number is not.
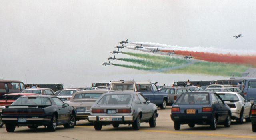
<svg viewBox="0 0 256 140"><path fill-rule="evenodd" d="M76 111L56 96L22 96L2 110L1 118L7 132L14 132L16 126L47 126L55 131L57 125L74 128Z"/></svg>

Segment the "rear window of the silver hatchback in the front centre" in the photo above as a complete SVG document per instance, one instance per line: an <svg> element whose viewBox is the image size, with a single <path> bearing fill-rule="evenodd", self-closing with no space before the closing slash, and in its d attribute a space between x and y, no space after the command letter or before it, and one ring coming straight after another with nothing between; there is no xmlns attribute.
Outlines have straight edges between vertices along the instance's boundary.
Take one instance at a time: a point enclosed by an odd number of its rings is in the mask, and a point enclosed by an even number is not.
<svg viewBox="0 0 256 140"><path fill-rule="evenodd" d="M105 95L103 96L98 104L99 105L128 105L131 100L131 95L127 94L112 94L112 95Z"/></svg>

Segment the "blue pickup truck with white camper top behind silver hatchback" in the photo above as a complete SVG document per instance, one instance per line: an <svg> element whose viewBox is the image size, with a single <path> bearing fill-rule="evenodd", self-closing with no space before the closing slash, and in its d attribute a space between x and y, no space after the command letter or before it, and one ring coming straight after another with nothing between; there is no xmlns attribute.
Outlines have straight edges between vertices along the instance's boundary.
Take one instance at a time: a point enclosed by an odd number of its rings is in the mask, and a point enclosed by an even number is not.
<svg viewBox="0 0 256 140"><path fill-rule="evenodd" d="M161 109L169 102L168 94L159 92L157 86L150 81L113 81L110 90L140 92L148 101Z"/></svg>

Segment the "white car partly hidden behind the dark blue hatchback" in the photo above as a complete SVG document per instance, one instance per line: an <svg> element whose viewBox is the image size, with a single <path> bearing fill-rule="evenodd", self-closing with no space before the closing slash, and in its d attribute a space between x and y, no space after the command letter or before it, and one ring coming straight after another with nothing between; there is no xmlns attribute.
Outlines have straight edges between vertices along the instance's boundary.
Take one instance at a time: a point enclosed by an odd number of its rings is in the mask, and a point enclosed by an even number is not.
<svg viewBox="0 0 256 140"><path fill-rule="evenodd" d="M231 119L240 124L243 123L244 118L246 122L250 122L250 101L236 92L217 92L217 94L230 107Z"/></svg>

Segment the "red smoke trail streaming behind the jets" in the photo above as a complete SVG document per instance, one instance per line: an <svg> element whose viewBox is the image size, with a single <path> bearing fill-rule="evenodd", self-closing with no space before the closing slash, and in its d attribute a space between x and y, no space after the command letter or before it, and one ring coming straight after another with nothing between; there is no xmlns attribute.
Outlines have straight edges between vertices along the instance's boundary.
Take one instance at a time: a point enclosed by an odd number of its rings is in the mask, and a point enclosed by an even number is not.
<svg viewBox="0 0 256 140"><path fill-rule="evenodd" d="M161 50L162 52L172 52L173 50ZM220 50L221 51L221 50ZM231 54L217 54L208 52L192 52L176 50L175 54L188 56L191 54L195 59L205 60L210 62L224 62L231 64L250 64L256 66L256 56L240 56Z"/></svg>

